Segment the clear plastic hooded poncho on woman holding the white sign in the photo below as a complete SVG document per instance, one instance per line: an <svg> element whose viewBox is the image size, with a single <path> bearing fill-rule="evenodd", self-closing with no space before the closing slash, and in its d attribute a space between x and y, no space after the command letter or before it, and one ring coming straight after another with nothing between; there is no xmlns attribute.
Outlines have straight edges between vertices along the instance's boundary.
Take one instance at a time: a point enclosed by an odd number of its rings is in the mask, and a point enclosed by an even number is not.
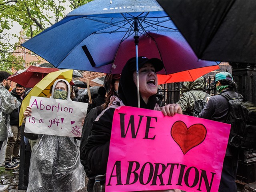
<svg viewBox="0 0 256 192"><path fill-rule="evenodd" d="M60 80L54 83L52 96ZM67 98L70 98L69 84ZM80 141L74 137L40 134L32 148L27 192L73 192L84 185Z"/></svg>

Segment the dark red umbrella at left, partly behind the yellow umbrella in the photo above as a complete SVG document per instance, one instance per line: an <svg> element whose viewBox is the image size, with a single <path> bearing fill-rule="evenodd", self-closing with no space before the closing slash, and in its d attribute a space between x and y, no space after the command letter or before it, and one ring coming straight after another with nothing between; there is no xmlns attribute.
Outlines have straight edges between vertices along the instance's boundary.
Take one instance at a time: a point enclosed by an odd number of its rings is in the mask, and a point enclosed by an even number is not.
<svg viewBox="0 0 256 192"><path fill-rule="evenodd" d="M59 69L57 68L37 67L31 65L28 68L11 75L8 79L24 86L25 88L32 88L48 73L58 70Z"/></svg>

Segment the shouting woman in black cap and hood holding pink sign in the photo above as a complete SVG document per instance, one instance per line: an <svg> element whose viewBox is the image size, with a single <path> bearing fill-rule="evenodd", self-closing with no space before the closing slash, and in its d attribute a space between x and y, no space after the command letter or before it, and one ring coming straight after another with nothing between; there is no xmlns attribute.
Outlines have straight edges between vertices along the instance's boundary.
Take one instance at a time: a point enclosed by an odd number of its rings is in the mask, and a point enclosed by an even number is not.
<svg viewBox="0 0 256 192"><path fill-rule="evenodd" d="M157 58L139 57L138 63L140 107L161 110L156 104L158 88L156 72L163 68L162 61ZM81 161L90 176L106 174L114 110L119 106L138 107L136 83L136 58L131 58L122 70L118 88L119 98L112 96L108 108L93 122L91 135L87 139L84 149L85 156L81 157ZM178 104L163 106L162 112L168 116L173 116L176 113L182 114Z"/></svg>

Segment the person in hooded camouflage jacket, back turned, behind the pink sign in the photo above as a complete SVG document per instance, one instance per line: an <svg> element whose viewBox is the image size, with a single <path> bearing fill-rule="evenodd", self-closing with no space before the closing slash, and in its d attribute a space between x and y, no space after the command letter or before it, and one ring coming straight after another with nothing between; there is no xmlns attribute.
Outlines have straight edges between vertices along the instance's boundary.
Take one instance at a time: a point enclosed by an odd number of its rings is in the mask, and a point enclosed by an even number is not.
<svg viewBox="0 0 256 192"><path fill-rule="evenodd" d="M194 82L186 81L182 85L181 91L183 92L180 100L177 104L180 105L183 114L195 116L194 115L194 103L196 100L207 100L210 95L204 92L204 78L199 77Z"/></svg>

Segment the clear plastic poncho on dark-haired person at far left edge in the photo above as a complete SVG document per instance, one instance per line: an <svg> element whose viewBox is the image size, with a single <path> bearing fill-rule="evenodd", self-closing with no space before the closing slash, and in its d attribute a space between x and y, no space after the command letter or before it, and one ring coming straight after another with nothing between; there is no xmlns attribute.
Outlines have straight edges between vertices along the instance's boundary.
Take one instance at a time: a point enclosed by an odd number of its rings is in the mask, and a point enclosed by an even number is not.
<svg viewBox="0 0 256 192"><path fill-rule="evenodd" d="M16 97L0 84L0 141L8 138L8 128L10 125L10 114L20 106Z"/></svg>

